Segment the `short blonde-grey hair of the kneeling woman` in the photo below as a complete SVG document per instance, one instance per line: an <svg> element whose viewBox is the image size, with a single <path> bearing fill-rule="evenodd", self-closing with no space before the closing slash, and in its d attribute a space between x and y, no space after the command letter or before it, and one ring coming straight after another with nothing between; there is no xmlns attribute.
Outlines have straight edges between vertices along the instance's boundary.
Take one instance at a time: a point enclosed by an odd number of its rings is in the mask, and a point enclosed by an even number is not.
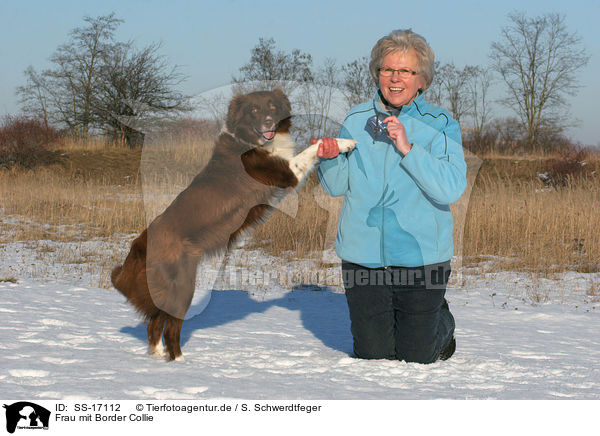
<svg viewBox="0 0 600 436"><path fill-rule="evenodd" d="M411 29L398 29L390 32L389 35L384 36L371 50L371 62L369 63L369 70L371 76L375 80L375 84L379 85L379 68L383 62L383 58L388 54L395 51L406 53L410 49L414 49L419 59L419 67L425 80L424 89L429 88L433 81L433 62L434 55L433 50L427 44L425 38L421 35L414 33Z"/></svg>

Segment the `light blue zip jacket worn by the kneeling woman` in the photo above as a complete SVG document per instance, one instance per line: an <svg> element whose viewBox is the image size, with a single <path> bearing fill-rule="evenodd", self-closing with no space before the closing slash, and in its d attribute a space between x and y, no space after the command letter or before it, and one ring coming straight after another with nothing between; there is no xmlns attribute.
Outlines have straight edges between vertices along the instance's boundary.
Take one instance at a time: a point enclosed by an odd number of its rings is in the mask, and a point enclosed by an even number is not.
<svg viewBox="0 0 600 436"><path fill-rule="evenodd" d="M367 126L390 114L379 93L354 107L339 137L357 140L356 148L321 160L321 186L344 196L336 252L369 268L447 261L454 250L448 205L467 184L460 126L421 94L397 114L412 143L403 156L381 128Z"/></svg>

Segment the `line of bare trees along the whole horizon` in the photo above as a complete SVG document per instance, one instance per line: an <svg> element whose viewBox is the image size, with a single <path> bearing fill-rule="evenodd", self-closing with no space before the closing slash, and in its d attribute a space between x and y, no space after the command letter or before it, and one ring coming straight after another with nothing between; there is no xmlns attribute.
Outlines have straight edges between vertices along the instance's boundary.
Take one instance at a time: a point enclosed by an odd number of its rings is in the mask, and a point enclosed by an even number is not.
<svg viewBox="0 0 600 436"><path fill-rule="evenodd" d="M51 56L52 68L25 71L26 84L17 93L26 114L80 136L101 132L135 146L141 141L135 121L176 118L191 109L189 97L175 90L185 77L159 54L159 44L137 49L131 41L115 41L123 21L114 14L84 21ZM426 98L466 128L471 148L560 146L573 123L567 96L579 88L577 73L589 60L565 16L509 14L489 59L486 66L436 62ZM260 38L231 83L240 92L279 86L298 95L294 104L306 114L308 134L318 137L335 134L326 116L332 105L349 109L372 98L376 85L368 63L363 56L343 65L326 59L314 66L310 54L285 52L274 39ZM494 89L502 98L492 98ZM340 94L343 101L336 100ZM222 121L227 103L222 96L197 103ZM495 118L496 105L511 116Z"/></svg>

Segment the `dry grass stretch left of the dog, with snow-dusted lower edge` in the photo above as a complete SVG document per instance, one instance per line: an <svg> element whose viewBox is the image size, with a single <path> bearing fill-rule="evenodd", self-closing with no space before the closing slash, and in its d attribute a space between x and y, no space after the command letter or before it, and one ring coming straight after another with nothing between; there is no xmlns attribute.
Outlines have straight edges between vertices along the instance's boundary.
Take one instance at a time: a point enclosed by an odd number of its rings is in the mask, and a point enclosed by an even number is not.
<svg viewBox="0 0 600 436"><path fill-rule="evenodd" d="M27 267L30 273L46 277L52 272L42 263L57 262L109 287L108 272L122 262L127 241L187 186L212 150L191 138L154 139L143 153L100 140L66 141L59 163L0 169L0 250L23 241L40 262ZM90 251L94 246L99 252Z"/></svg>

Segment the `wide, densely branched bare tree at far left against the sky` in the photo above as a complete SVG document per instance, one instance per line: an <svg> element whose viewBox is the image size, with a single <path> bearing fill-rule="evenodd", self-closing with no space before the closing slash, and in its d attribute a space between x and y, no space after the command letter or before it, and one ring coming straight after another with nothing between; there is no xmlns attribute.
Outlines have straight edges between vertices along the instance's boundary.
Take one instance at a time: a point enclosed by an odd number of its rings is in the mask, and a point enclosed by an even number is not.
<svg viewBox="0 0 600 436"><path fill-rule="evenodd" d="M186 97L173 90L183 77L158 54L159 44L137 50L116 42L123 20L114 14L84 21L50 57L52 68L25 71L27 83L17 94L26 114L82 137L118 135L133 146L141 139L135 124L187 109Z"/></svg>

